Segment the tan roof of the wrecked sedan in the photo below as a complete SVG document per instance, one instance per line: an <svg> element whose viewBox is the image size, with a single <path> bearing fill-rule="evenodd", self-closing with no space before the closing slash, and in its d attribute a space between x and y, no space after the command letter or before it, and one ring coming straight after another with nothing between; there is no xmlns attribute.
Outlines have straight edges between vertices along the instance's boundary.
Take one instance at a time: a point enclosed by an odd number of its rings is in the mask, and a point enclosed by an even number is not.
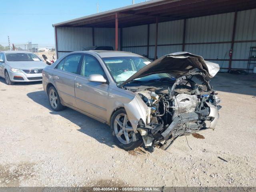
<svg viewBox="0 0 256 192"><path fill-rule="evenodd" d="M106 50L90 50L90 51L76 51L76 52L82 52L82 53L96 53L101 58L104 57L141 57L141 55L132 53L132 52L126 52L126 51L106 51ZM73 52L74 53L74 52Z"/></svg>

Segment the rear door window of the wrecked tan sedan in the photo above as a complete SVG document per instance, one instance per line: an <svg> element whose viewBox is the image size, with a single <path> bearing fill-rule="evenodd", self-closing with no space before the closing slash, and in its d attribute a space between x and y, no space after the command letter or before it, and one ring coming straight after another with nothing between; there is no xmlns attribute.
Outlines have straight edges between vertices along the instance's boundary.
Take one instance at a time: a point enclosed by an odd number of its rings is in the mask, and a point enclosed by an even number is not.
<svg viewBox="0 0 256 192"><path fill-rule="evenodd" d="M67 56L58 64L57 68L66 72L79 74L79 62L81 57L81 54Z"/></svg>

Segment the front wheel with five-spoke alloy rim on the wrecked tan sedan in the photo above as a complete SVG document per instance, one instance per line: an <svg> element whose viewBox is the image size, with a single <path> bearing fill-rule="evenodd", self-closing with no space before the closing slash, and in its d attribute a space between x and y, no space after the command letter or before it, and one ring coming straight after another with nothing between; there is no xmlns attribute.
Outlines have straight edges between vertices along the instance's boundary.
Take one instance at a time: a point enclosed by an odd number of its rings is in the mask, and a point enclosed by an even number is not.
<svg viewBox="0 0 256 192"><path fill-rule="evenodd" d="M124 109L118 109L111 117L111 129L113 130L114 141L124 150L134 150L142 145L140 134L136 135L137 141L133 141L134 132L128 116Z"/></svg>

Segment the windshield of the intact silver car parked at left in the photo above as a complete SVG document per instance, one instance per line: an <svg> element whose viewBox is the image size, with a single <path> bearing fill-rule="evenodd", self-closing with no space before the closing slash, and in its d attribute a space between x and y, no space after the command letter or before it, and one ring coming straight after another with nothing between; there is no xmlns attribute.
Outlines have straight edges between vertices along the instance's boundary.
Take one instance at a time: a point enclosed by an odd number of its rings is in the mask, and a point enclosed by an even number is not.
<svg viewBox="0 0 256 192"><path fill-rule="evenodd" d="M6 53L7 61L41 61L33 53Z"/></svg>

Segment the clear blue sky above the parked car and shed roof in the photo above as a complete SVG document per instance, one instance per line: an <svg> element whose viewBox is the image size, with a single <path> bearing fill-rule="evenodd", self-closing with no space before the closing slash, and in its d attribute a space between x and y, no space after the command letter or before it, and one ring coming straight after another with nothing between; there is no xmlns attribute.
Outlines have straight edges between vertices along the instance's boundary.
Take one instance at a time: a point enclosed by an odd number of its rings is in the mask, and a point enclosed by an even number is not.
<svg viewBox="0 0 256 192"><path fill-rule="evenodd" d="M135 0L135 3L142 0ZM0 44L54 46L52 24L132 4L132 0L2 0Z"/></svg>

